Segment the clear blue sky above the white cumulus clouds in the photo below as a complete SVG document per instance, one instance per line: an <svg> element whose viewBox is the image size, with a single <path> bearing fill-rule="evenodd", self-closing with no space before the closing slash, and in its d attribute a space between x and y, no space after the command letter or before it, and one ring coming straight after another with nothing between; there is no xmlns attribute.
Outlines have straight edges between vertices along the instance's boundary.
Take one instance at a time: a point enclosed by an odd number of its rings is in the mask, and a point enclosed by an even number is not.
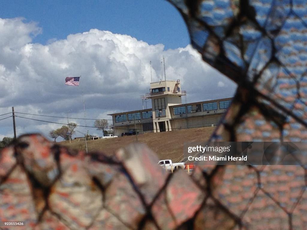
<svg viewBox="0 0 307 230"><path fill-rule="evenodd" d="M148 44L162 43L165 49L190 42L181 15L164 0L1 0L0 17L38 22L43 33L33 42L41 44L93 28L128 34Z"/></svg>

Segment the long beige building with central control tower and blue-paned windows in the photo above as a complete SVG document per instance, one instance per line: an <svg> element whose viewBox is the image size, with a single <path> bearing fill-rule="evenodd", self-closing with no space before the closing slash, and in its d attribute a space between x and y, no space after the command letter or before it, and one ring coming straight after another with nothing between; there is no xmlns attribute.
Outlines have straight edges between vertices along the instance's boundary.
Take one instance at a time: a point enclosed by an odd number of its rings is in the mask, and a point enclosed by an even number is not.
<svg viewBox="0 0 307 230"><path fill-rule="evenodd" d="M217 125L232 98L182 104L180 81L150 83L150 92L142 99L151 99L151 109L141 109L112 116L115 135L135 131L165 132L182 128Z"/></svg>

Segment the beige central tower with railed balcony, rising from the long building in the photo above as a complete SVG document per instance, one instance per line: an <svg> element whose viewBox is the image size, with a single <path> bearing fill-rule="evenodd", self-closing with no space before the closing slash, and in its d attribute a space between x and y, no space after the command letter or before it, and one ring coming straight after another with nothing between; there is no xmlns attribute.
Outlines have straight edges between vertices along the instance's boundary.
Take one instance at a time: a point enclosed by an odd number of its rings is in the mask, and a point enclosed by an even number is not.
<svg viewBox="0 0 307 230"><path fill-rule="evenodd" d="M171 131L171 111L169 106L182 104L181 96L186 92L180 89L180 80L150 83L150 93L143 98L151 99L153 111L153 132Z"/></svg>

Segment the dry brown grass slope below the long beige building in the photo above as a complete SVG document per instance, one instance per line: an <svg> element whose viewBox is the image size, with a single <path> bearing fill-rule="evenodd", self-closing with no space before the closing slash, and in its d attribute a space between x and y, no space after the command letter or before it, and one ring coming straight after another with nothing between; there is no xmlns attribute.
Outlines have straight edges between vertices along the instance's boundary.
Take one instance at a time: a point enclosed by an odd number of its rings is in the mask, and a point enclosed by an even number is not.
<svg viewBox="0 0 307 230"><path fill-rule="evenodd" d="M175 130L171 132L146 133L138 135L138 142L145 143L149 148L157 153L159 159L172 159L178 161L183 155L183 145L185 142L206 141L211 136L215 127L202 127ZM111 139L89 140L87 141L88 151L101 151L108 155L123 148L131 143L136 142L135 136L122 136ZM59 144L77 150L85 150L83 140L73 140L60 142Z"/></svg>

